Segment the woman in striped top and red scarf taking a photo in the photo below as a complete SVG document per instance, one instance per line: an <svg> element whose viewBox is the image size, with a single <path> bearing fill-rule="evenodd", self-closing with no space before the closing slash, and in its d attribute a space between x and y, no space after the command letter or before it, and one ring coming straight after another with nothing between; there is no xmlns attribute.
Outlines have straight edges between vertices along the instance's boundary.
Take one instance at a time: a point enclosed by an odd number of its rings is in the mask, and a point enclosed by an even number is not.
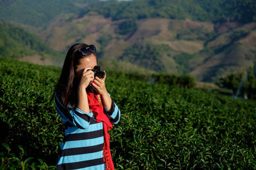
<svg viewBox="0 0 256 170"><path fill-rule="evenodd" d="M54 91L56 110L65 127L57 169L114 169L108 130L120 110L105 87L106 75L95 76L96 48L72 45Z"/></svg>

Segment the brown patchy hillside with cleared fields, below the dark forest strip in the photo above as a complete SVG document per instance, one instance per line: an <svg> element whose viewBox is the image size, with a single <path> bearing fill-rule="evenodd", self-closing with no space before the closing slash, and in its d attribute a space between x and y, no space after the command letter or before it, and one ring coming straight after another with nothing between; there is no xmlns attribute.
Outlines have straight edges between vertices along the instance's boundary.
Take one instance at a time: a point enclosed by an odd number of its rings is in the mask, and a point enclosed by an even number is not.
<svg viewBox="0 0 256 170"><path fill-rule="evenodd" d="M189 73L198 81L214 81L233 71L243 71L256 60L255 22L213 24L148 18L138 20L133 31L120 34L119 27L124 23L131 25L131 20L113 21L92 13L72 21L56 20L38 36L63 52L72 43L95 44L102 59L116 60L116 64L108 62L106 67L125 62L122 67L126 70L143 67Z"/></svg>

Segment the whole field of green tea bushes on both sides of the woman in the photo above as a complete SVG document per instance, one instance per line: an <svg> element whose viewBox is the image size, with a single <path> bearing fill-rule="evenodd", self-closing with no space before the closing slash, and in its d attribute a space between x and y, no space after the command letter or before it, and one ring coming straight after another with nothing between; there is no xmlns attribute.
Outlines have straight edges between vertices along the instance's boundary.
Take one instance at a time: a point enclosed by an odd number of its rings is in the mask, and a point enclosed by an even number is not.
<svg viewBox="0 0 256 170"><path fill-rule="evenodd" d="M60 72L0 58L0 169L54 169ZM116 169L256 169L256 101L106 74L121 111L110 132Z"/></svg>

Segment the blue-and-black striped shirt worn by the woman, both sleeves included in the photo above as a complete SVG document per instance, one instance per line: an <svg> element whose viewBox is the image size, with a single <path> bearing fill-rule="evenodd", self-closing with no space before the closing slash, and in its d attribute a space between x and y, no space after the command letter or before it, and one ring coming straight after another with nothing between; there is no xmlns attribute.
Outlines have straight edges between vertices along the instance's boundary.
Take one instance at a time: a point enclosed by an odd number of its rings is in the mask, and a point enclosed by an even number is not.
<svg viewBox="0 0 256 170"><path fill-rule="evenodd" d="M76 107L67 110L55 92L56 111L65 127L57 169L105 169L103 161L104 132L102 122L97 123L92 111L85 113ZM120 120L120 110L112 101L111 109L104 113L112 124Z"/></svg>

